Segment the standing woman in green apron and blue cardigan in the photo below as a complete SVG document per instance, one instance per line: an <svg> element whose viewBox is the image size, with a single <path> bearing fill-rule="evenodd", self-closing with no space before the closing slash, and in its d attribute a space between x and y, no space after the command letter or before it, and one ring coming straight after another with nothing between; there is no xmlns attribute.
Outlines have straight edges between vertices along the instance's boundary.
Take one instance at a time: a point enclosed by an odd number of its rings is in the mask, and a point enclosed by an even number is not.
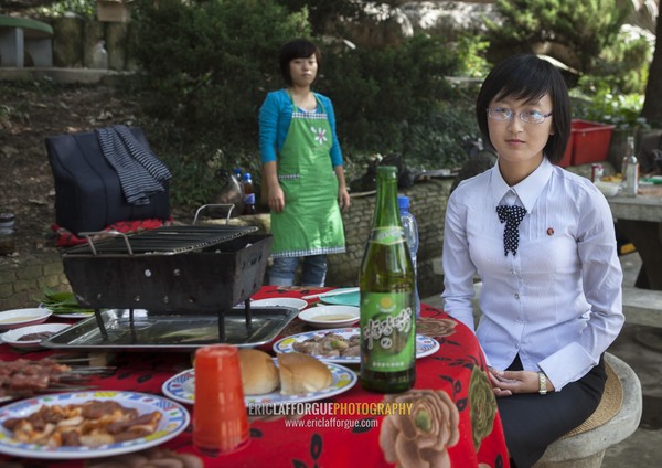
<svg viewBox="0 0 662 468"><path fill-rule="evenodd" d="M259 110L263 182L271 210L274 264L269 284L323 286L327 254L345 251L341 210L350 206L331 100L310 89L320 50L297 39L280 51L287 88L267 95Z"/></svg>

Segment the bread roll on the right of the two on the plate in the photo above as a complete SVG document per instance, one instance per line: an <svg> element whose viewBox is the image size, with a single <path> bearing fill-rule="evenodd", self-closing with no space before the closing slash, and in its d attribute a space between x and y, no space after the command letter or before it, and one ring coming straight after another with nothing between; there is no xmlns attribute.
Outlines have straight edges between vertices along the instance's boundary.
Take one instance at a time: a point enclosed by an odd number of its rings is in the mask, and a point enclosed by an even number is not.
<svg viewBox="0 0 662 468"><path fill-rule="evenodd" d="M278 354L280 393L298 395L331 385L333 375L323 362L300 352Z"/></svg>

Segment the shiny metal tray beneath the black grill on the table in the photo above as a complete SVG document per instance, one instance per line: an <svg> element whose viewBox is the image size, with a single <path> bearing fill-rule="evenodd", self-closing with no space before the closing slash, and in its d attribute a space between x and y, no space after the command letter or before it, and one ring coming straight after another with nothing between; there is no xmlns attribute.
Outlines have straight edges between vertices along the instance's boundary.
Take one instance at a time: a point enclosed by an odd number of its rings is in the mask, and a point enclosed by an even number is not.
<svg viewBox="0 0 662 468"><path fill-rule="evenodd" d="M238 348L253 348L273 341L298 316L292 307L263 307L250 309L250 327L246 326L244 308L224 313L224 343ZM108 309L99 312L107 338L98 327L96 317L53 334L42 341L42 347L81 351L191 351L218 340L217 313L164 313L135 309Z"/></svg>

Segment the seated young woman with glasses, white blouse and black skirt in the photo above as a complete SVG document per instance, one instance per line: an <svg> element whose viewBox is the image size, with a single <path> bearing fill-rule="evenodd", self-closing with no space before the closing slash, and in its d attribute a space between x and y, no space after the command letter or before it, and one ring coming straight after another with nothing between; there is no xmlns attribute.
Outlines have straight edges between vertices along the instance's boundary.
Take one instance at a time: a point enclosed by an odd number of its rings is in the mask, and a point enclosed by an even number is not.
<svg viewBox="0 0 662 468"><path fill-rule="evenodd" d="M476 115L499 155L449 198L445 310L476 328L512 465L531 467L580 425L605 387L602 353L622 325L622 273L607 200L558 166L570 134L560 73L535 55L498 64Z"/></svg>

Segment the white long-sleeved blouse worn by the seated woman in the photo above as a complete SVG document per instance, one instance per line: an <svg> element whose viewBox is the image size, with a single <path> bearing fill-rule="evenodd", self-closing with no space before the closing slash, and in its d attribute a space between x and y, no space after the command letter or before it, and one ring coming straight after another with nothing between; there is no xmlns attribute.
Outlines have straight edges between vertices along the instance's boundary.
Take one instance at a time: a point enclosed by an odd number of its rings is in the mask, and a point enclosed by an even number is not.
<svg viewBox="0 0 662 468"><path fill-rule="evenodd" d="M515 256L503 253L499 204L527 211ZM586 375L624 322L609 204L546 158L512 188L498 163L463 181L448 201L442 259L445 310L470 329L473 276L482 280L476 333L490 365L506 369L519 353L556 391Z"/></svg>

